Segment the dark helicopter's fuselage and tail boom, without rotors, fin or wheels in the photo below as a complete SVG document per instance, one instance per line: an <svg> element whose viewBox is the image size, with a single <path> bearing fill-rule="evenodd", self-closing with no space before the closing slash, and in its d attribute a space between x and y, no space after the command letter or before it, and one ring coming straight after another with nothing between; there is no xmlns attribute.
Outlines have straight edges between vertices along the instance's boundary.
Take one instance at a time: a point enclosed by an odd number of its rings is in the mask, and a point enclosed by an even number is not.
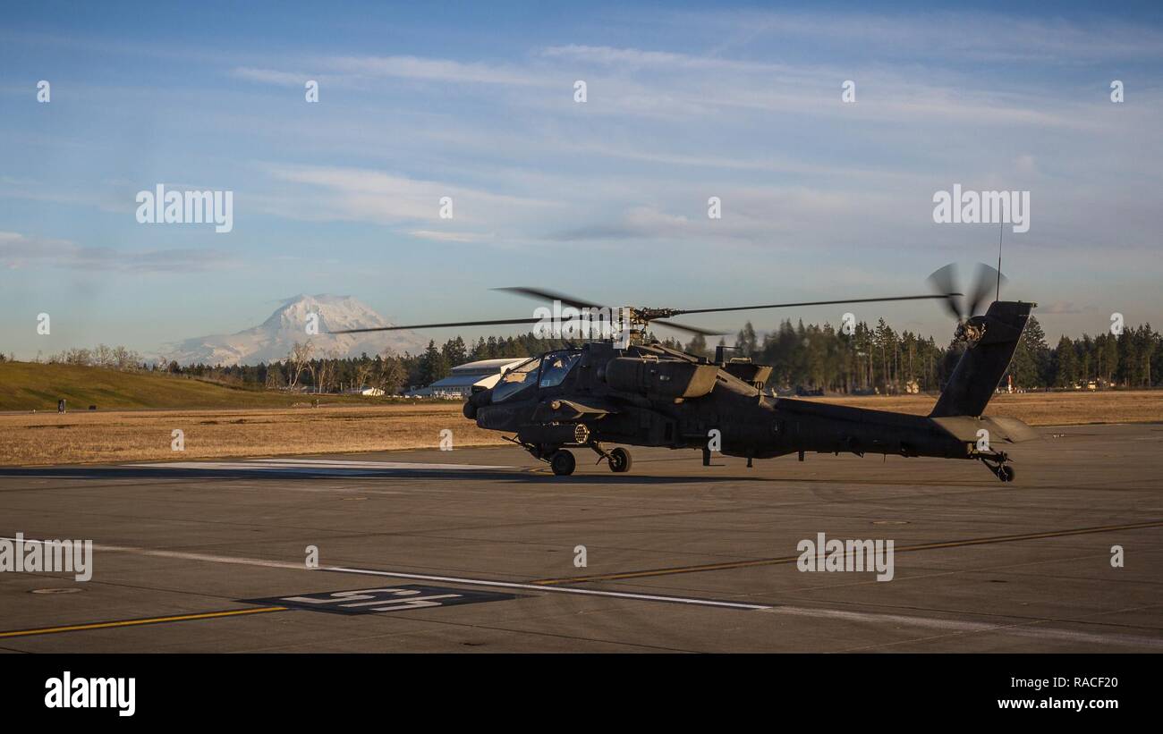
<svg viewBox="0 0 1163 734"><path fill-rule="evenodd" d="M558 381L554 370L565 362ZM982 444L979 430L1005 439L1016 427L775 397L764 394L762 380L742 379L765 379L770 368L712 362L659 344L618 350L597 341L527 365L520 380L527 384L512 390L502 381L479 391L465 415L483 429L514 433L542 459L570 446L597 445L600 453L602 442L748 459L802 452L978 459L998 455Z"/></svg>

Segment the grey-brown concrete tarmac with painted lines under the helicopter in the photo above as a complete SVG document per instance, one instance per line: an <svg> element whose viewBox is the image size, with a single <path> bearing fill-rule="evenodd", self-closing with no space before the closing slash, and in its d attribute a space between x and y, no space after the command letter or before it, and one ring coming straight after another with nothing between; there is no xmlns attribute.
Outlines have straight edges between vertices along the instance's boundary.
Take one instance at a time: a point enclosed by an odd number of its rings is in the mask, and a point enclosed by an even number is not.
<svg viewBox="0 0 1163 734"><path fill-rule="evenodd" d="M93 541L88 582L0 573L0 652L1163 652L1163 425L1040 431L1008 484L643 448L0 468L0 537ZM800 570L820 533L891 540L892 580Z"/></svg>

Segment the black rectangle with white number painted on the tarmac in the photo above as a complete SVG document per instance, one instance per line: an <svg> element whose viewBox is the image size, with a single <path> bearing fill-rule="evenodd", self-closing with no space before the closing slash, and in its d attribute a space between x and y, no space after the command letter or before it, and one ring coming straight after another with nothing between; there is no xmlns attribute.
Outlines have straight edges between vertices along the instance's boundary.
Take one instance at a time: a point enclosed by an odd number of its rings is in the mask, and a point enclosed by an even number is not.
<svg viewBox="0 0 1163 734"><path fill-rule="evenodd" d="M407 584L355 591L323 591L300 596L245 599L249 604L307 609L334 614L378 614L383 612L406 612L433 606L455 606L477 602L501 602L515 599L520 595L495 591L470 591L445 587Z"/></svg>

